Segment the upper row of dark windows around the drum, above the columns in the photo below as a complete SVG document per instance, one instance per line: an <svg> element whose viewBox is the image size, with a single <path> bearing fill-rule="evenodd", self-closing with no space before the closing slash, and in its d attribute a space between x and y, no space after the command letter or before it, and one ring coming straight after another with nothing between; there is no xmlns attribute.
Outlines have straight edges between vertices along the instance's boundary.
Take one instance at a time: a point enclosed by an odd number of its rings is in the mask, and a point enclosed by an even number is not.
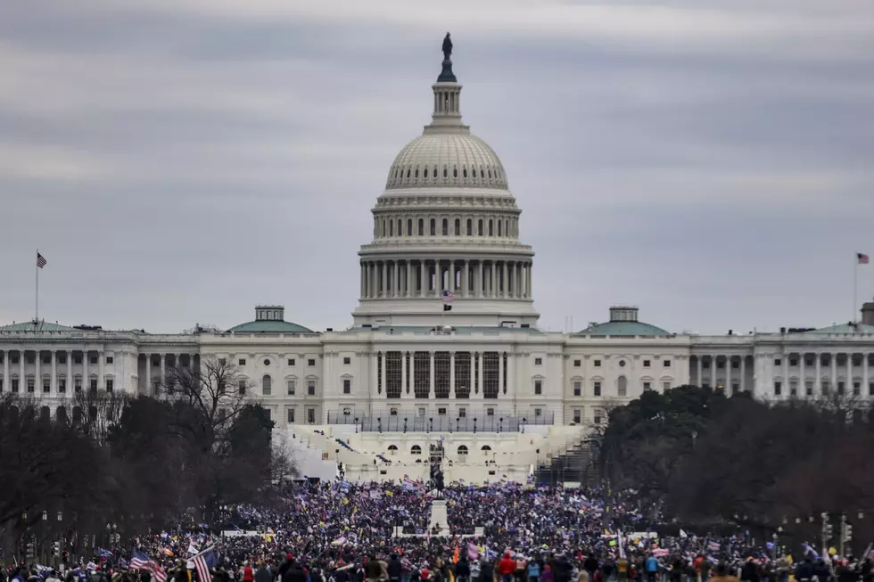
<svg viewBox="0 0 874 582"><path fill-rule="evenodd" d="M375 238L393 236L497 236L519 235L519 219L505 218L375 218Z"/></svg>

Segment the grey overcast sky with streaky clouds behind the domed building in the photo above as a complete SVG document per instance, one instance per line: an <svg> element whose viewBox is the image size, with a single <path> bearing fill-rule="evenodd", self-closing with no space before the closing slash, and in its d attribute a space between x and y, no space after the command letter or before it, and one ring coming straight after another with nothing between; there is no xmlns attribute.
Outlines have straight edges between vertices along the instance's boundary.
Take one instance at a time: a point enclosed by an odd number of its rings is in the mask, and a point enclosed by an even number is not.
<svg viewBox="0 0 874 582"><path fill-rule="evenodd" d="M862 0L4 0L0 323L344 328L441 39L540 326L826 325L874 255ZM874 265L859 268L859 299Z"/></svg>

